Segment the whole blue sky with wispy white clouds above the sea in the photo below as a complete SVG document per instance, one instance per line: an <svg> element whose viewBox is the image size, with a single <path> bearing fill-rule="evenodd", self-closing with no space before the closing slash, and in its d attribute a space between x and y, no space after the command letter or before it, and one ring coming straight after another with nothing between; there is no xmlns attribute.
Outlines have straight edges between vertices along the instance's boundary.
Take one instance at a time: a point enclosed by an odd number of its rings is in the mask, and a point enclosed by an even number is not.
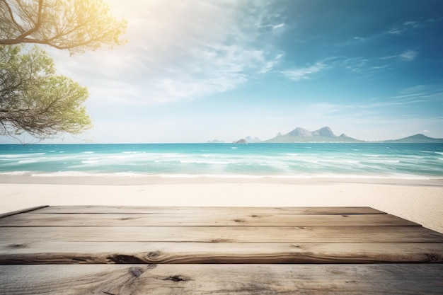
<svg viewBox="0 0 443 295"><path fill-rule="evenodd" d="M126 45L45 48L88 88L94 127L43 143L443 138L443 1L106 2Z"/></svg>

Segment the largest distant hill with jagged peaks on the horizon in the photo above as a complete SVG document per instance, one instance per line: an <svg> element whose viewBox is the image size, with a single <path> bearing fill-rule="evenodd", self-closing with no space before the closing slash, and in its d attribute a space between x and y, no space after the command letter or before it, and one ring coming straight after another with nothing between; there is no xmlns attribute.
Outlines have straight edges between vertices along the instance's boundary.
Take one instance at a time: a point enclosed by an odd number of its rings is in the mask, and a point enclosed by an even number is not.
<svg viewBox="0 0 443 295"><path fill-rule="evenodd" d="M263 142L363 142L359 139L348 137L346 134L337 136L330 127L323 127L315 131L297 127L287 134L277 134L276 137Z"/></svg>

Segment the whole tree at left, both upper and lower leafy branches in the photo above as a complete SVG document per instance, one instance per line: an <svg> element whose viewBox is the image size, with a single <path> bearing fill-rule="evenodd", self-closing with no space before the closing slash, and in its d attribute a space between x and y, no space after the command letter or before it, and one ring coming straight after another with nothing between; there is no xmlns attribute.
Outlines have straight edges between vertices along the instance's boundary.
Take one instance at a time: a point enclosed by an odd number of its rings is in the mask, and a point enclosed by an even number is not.
<svg viewBox="0 0 443 295"><path fill-rule="evenodd" d="M126 25L101 0L0 0L0 135L45 139L91 127L81 106L86 88L57 76L52 59L25 44L82 53L122 45Z"/></svg>

